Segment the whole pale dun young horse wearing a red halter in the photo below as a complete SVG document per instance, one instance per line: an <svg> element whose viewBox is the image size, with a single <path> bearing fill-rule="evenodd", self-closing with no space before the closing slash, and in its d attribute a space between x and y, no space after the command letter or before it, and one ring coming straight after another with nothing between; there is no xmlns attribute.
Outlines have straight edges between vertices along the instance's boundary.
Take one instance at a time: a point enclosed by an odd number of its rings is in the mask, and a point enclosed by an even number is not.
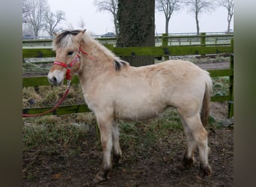
<svg viewBox="0 0 256 187"><path fill-rule="evenodd" d="M100 129L103 163L94 178L107 179L112 162L118 163L118 120L156 117L174 106L186 134L181 165L191 167L198 147L201 176L210 175L207 124L212 81L207 71L189 61L165 61L145 67L131 67L91 38L85 31L63 31L53 41L54 65L48 74L52 85L61 85L65 74L78 74L88 107L94 111ZM74 60L75 59L75 60ZM112 157L113 150L113 157Z"/></svg>

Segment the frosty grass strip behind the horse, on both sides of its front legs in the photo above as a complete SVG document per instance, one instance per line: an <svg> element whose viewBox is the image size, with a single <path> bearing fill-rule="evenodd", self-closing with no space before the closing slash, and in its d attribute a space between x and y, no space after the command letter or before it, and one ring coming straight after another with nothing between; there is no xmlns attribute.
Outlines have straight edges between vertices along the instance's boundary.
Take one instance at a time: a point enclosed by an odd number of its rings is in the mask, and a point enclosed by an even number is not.
<svg viewBox="0 0 256 187"><path fill-rule="evenodd" d="M23 118L25 150L62 144L82 144L90 126L96 125L94 114L66 114ZM170 108L160 117L142 122L120 123L120 141L124 147L150 147L173 131L182 131L177 111ZM96 133L95 133L96 136Z"/></svg>

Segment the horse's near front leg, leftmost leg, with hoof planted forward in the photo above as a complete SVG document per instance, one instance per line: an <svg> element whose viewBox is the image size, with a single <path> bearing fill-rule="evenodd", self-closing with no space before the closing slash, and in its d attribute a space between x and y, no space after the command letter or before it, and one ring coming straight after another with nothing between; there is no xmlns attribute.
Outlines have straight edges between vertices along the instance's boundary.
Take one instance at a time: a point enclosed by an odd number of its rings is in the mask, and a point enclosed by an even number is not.
<svg viewBox="0 0 256 187"><path fill-rule="evenodd" d="M109 117L97 117L100 129L100 141L103 148L103 162L100 171L94 178L94 183L100 183L107 179L107 174L112 168L112 119Z"/></svg>

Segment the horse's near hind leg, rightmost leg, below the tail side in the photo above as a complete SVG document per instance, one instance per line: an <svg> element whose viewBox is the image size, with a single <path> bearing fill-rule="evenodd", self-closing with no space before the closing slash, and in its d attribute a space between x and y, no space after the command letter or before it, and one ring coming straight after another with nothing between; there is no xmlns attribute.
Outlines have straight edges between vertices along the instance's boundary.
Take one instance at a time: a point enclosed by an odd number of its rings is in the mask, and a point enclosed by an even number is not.
<svg viewBox="0 0 256 187"><path fill-rule="evenodd" d="M202 176L209 176L212 170L208 163L209 147L207 145L208 144L207 131L204 129L204 126L201 123L200 114L198 112L198 114L191 116L191 115L182 114L180 112L180 115L183 117L183 120L186 122L187 130L191 133L196 144L198 145L199 161L200 161L199 174ZM195 146L195 144L193 143L192 146Z"/></svg>

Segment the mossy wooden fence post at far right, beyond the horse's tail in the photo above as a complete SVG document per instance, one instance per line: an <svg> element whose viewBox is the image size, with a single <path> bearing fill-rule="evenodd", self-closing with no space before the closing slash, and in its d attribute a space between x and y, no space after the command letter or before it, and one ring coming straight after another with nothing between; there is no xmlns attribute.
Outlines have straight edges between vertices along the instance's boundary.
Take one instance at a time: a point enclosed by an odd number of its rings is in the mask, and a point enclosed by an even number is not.
<svg viewBox="0 0 256 187"><path fill-rule="evenodd" d="M234 39L231 39L231 47L234 48ZM234 70L234 54L231 54L230 69ZM230 99L228 101L228 118L234 116L234 75L229 76L229 91Z"/></svg>

